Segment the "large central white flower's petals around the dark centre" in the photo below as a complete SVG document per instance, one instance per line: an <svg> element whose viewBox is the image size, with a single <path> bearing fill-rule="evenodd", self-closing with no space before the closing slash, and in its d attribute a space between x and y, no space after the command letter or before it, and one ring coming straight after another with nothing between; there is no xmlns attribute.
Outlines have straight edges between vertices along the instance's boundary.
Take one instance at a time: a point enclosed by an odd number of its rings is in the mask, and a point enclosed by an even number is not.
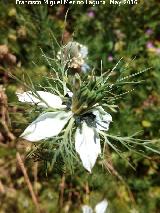
<svg viewBox="0 0 160 213"><path fill-rule="evenodd" d="M69 97L72 93L69 91ZM41 107L52 107L54 112L45 112L33 121L21 134L24 139L36 142L57 136L74 116L68 106L62 104L62 99L49 92L31 91L17 93L21 102L37 104ZM91 172L97 157L101 154L99 131L107 131L112 121L110 114L104 111L102 107L95 107L83 116L80 116L80 122L75 132L75 150L82 160L85 169Z"/></svg>

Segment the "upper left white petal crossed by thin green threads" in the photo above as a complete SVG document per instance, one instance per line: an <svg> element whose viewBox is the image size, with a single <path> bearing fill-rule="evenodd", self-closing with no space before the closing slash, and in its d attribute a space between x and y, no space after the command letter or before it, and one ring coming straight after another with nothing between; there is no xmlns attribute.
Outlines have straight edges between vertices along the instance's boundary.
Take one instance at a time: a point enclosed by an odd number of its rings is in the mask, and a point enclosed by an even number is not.
<svg viewBox="0 0 160 213"><path fill-rule="evenodd" d="M33 93L31 91L24 92L24 93L17 92L16 94L18 96L18 100L21 102L37 104L37 105L43 106L43 107L49 106L49 107L53 107L53 108L65 108L65 106L62 105L62 99L59 96L54 95L50 92L44 92L44 91L36 91L36 93L40 97L38 97L35 93Z"/></svg>

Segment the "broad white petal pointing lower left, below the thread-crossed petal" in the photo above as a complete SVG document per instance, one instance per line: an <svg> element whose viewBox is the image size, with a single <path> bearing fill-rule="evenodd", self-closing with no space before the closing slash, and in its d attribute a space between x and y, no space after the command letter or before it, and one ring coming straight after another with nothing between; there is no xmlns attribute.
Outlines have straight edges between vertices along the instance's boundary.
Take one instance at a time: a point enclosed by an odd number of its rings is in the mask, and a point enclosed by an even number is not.
<svg viewBox="0 0 160 213"><path fill-rule="evenodd" d="M20 137L29 141L39 141L58 135L71 118L72 112L47 112L40 115Z"/></svg>

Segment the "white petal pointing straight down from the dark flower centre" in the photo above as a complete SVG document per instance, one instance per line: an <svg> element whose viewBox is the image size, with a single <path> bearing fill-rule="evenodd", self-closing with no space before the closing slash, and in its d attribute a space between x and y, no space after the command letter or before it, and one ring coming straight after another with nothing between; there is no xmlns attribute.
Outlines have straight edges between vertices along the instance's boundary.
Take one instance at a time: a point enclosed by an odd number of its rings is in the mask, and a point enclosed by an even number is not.
<svg viewBox="0 0 160 213"><path fill-rule="evenodd" d="M75 133L75 149L80 155L85 169L91 172L98 155L101 153L100 139L95 128L83 122L82 128Z"/></svg>

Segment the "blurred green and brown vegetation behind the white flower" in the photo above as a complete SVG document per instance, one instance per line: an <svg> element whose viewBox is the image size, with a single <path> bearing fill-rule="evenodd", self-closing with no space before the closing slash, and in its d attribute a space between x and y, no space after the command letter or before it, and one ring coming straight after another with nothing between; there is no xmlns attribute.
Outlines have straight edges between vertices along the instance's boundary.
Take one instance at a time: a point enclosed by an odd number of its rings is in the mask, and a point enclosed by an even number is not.
<svg viewBox="0 0 160 213"><path fill-rule="evenodd" d="M18 139L32 120L31 109L17 105L15 92L23 86L8 75L42 83L50 70L40 48L50 57L58 46L64 29L68 5L16 5L0 2L0 213L36 212L22 171L16 166L16 151L25 158L30 144ZM160 4L141 0L136 5L95 7L72 5L67 17L64 41L74 40L88 46L89 62L100 72L111 69L120 58L117 70L124 76L152 67L141 75L145 80L135 91L119 100L110 132L119 135L143 131L141 137L160 136ZM116 75L116 71L115 71ZM30 117L29 117L30 116ZM69 175L55 168L47 175L41 164L25 161L38 198L41 212L81 212L81 205L92 207L106 198L107 212L160 212L160 158L124 152L133 170L114 151L106 156L106 168L97 162L93 174L77 170ZM25 159L24 159L25 160Z"/></svg>

